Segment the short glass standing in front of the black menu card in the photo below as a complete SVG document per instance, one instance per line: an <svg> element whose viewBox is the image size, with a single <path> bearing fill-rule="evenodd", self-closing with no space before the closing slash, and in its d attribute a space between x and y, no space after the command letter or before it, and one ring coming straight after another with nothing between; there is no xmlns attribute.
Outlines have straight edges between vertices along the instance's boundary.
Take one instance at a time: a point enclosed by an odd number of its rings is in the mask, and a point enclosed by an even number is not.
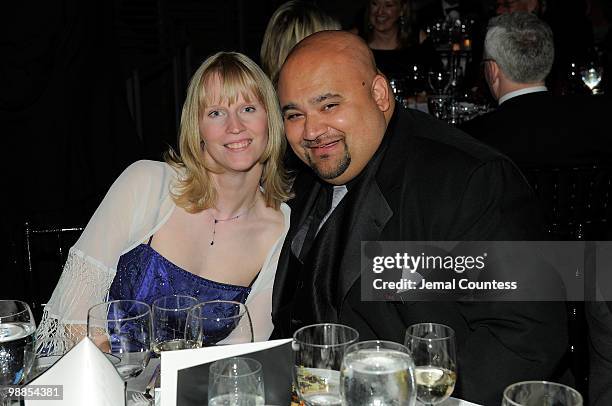
<svg viewBox="0 0 612 406"><path fill-rule="evenodd" d="M264 380L261 363L233 357L215 361L208 376L209 406L263 406Z"/></svg>

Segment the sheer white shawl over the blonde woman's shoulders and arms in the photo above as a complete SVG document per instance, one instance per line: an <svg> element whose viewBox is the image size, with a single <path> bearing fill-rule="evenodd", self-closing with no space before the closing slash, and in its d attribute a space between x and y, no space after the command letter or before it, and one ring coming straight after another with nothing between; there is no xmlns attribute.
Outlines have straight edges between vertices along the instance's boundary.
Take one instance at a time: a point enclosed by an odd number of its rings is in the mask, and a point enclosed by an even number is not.
<svg viewBox="0 0 612 406"><path fill-rule="evenodd" d="M111 186L76 244L70 249L60 280L53 291L37 330L37 339L80 339L87 311L108 296L119 257L146 241L168 220L176 207L170 190L177 172L168 164L138 161ZM253 322L255 341L272 333L272 287L287 231L290 209L281 205L282 235L268 252L251 287L246 304Z"/></svg>

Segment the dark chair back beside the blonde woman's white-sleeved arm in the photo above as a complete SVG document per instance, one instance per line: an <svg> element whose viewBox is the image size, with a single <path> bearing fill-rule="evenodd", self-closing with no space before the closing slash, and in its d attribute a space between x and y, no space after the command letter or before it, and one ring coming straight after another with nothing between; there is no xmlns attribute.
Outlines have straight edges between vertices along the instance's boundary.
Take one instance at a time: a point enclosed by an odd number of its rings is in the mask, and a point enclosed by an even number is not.
<svg viewBox="0 0 612 406"><path fill-rule="evenodd" d="M24 224L24 267L28 303L38 323L62 273L70 247L83 227L33 227Z"/></svg>

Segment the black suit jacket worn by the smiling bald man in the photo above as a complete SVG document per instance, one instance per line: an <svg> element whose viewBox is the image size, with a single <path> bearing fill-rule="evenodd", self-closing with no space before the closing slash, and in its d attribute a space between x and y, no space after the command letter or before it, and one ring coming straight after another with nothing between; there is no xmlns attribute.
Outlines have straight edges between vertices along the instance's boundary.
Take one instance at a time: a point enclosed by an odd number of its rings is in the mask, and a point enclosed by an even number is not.
<svg viewBox="0 0 612 406"><path fill-rule="evenodd" d="M362 302L360 242L535 239L539 225L530 188L509 160L460 131L415 110L398 109L394 115L366 203L346 230L337 320L356 328L360 340L396 342L403 342L405 329L414 323L452 326L459 364L455 396L497 405L506 385L554 376L567 344L564 305ZM310 306L293 302L295 269L287 265L291 241L319 182L306 171L294 184L291 229L272 300L275 337L292 335L294 306Z"/></svg>

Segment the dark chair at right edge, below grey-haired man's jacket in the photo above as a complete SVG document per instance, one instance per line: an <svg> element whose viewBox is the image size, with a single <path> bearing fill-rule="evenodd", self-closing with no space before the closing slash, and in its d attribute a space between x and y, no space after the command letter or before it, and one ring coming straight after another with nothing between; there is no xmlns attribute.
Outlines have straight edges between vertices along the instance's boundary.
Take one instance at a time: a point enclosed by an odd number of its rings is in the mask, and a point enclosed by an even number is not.
<svg viewBox="0 0 612 406"><path fill-rule="evenodd" d="M546 216L551 240L608 240L612 235L612 168L598 165L523 169ZM587 244L588 245L588 244ZM586 252L585 252L586 254ZM588 278L589 270L585 269ZM587 279L585 279L586 281ZM585 300L590 287L585 285ZM570 369L588 394L588 331L584 302L568 302Z"/></svg>

